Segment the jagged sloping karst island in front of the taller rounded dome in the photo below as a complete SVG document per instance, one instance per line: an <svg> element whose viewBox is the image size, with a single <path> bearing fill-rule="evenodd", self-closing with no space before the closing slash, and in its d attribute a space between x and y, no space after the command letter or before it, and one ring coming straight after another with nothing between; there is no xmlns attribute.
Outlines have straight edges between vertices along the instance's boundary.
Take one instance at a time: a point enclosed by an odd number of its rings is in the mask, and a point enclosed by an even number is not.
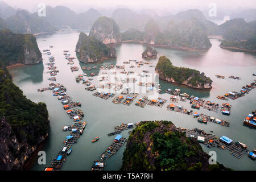
<svg viewBox="0 0 256 182"><path fill-rule="evenodd" d="M108 47L94 36L87 36L83 32L79 35L76 44L76 53L79 61L84 63L97 62L103 59L117 57L115 48Z"/></svg>

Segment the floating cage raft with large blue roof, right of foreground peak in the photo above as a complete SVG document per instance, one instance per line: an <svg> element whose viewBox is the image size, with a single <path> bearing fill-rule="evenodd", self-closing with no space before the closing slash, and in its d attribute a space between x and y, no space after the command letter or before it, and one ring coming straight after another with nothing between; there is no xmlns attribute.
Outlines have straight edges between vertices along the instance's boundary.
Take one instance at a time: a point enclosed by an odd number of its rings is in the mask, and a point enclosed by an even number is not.
<svg viewBox="0 0 256 182"><path fill-rule="evenodd" d="M223 150L229 150L230 154L238 159L240 159L248 152L248 150L246 149L247 147L244 147L242 144L240 144L240 142L231 142L228 144L221 139L218 139L216 143L218 148L222 148Z"/></svg>

